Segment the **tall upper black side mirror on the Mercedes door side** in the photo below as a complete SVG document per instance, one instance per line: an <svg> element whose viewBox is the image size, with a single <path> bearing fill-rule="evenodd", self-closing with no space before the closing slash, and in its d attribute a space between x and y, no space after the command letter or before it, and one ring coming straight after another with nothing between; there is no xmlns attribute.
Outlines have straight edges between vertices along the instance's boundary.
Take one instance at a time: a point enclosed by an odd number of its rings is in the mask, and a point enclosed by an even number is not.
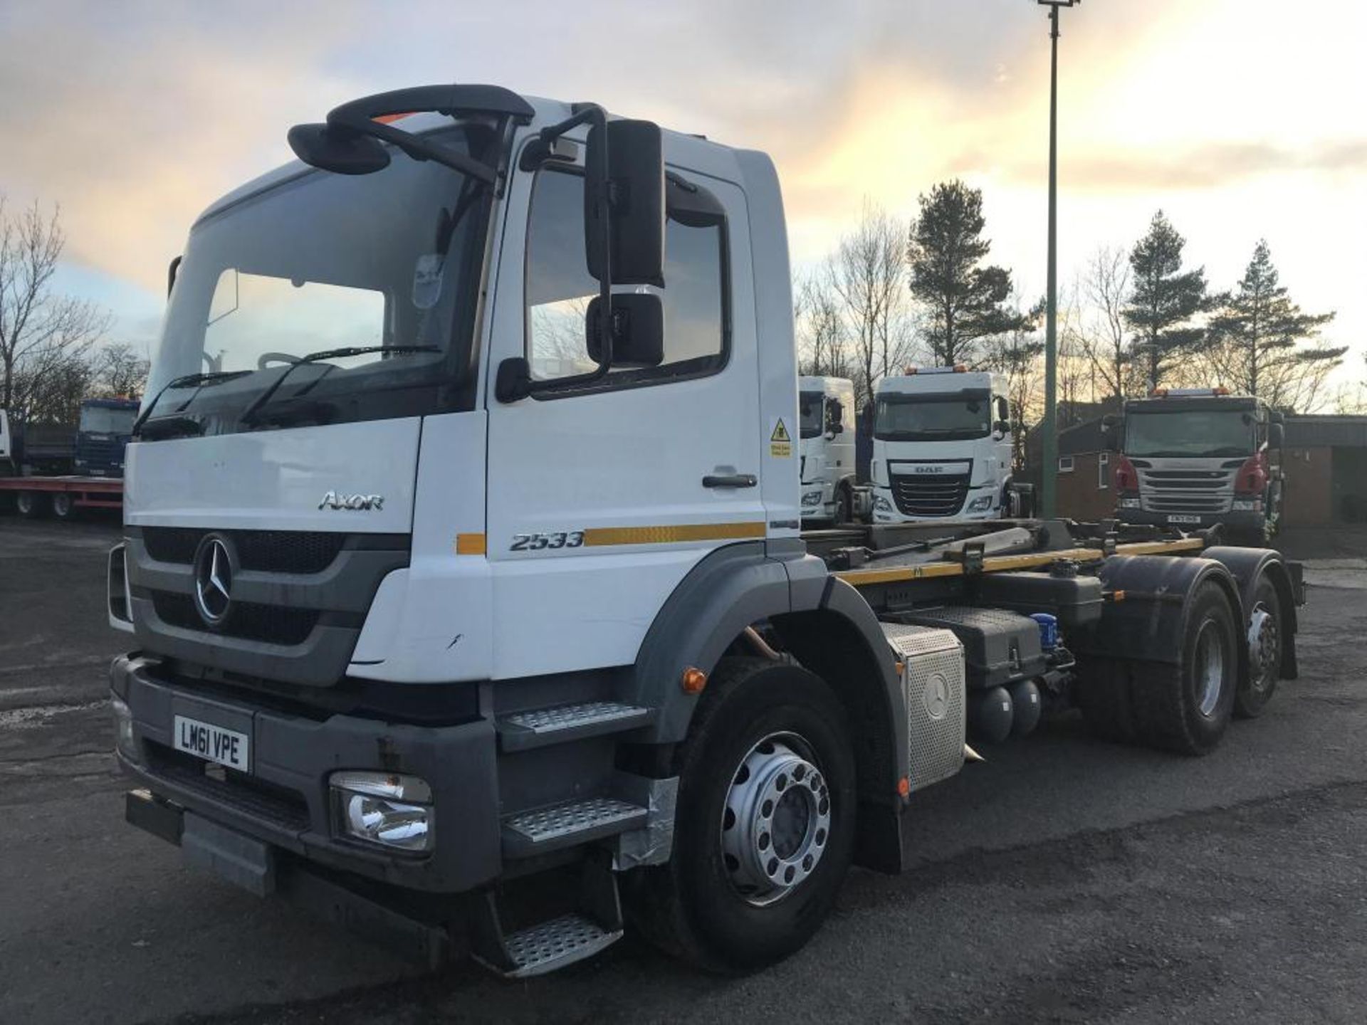
<svg viewBox="0 0 1367 1025"><path fill-rule="evenodd" d="M664 148L660 126L615 120L589 128L584 160L584 246L588 269L603 280L608 236L608 284L664 287ZM607 208L601 202L607 191ZM612 362L617 364L617 353Z"/></svg>

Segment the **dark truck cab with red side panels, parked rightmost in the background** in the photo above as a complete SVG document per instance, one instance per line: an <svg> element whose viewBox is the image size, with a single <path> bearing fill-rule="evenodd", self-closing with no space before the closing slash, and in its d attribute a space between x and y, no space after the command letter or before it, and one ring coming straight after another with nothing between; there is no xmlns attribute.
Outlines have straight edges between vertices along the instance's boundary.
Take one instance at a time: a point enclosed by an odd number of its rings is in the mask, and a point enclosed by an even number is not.
<svg viewBox="0 0 1367 1025"><path fill-rule="evenodd" d="M1222 523L1241 541L1271 538L1282 504L1282 417L1225 388L1161 388L1105 422L1122 523Z"/></svg>

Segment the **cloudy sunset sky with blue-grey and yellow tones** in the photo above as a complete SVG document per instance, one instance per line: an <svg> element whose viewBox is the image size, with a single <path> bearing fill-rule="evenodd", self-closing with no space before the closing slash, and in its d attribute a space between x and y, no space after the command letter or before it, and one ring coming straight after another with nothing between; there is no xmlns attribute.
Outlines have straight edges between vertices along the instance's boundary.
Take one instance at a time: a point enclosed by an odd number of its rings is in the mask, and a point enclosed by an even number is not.
<svg viewBox="0 0 1367 1025"><path fill-rule="evenodd" d="M1062 14L1059 275L1156 209L1213 287L1266 238L1367 354L1367 5L1081 0ZM148 344L208 204L366 93L491 82L767 150L801 268L865 198L983 189L991 260L1044 287L1048 31L1031 0L685 4L0 0L0 193L59 204L57 284ZM1346 373L1345 373L1346 377Z"/></svg>

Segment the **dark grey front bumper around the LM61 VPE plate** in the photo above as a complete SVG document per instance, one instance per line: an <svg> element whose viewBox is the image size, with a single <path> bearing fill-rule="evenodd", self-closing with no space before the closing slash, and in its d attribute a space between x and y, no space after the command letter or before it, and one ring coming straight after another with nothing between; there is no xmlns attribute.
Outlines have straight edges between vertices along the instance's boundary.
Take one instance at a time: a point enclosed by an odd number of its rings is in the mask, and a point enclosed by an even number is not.
<svg viewBox="0 0 1367 1025"><path fill-rule="evenodd" d="M407 726L347 715L323 719L209 696L160 675L142 656L115 659L111 687L131 711L137 756L122 768L154 795L309 862L407 890L461 892L502 869L493 724ZM175 752L182 715L246 733L250 774L209 776ZM328 776L372 769L421 776L432 787L431 853L387 851L334 832Z"/></svg>

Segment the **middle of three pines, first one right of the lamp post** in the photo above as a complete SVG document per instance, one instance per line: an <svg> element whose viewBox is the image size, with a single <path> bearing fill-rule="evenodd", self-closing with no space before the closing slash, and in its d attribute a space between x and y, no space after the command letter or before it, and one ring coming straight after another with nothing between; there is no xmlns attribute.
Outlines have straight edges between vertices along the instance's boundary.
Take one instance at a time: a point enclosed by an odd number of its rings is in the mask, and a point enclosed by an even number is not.
<svg viewBox="0 0 1367 1025"><path fill-rule="evenodd" d="M1133 290L1125 306L1125 323L1135 329L1133 347L1148 358L1148 387L1162 380L1165 359L1196 348L1206 336L1191 320L1208 305L1206 271L1182 271L1187 245L1163 212L1154 215L1144 235L1129 254Z"/></svg>

